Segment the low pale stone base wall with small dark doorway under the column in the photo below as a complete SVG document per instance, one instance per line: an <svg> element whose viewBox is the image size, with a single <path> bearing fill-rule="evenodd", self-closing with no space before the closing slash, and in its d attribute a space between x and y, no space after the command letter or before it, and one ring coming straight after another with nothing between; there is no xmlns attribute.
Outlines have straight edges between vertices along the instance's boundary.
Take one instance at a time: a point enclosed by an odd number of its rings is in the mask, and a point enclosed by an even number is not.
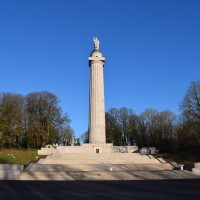
<svg viewBox="0 0 200 200"><path fill-rule="evenodd" d="M137 146L113 146L106 144L83 144L82 146L57 146L56 148L41 148L38 155L51 155L60 153L133 153L138 150Z"/></svg>

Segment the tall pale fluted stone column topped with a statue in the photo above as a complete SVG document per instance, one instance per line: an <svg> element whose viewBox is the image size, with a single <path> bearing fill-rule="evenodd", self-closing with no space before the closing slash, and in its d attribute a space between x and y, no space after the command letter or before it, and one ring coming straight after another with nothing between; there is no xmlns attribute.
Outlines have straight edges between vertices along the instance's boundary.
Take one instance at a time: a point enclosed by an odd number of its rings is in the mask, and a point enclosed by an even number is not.
<svg viewBox="0 0 200 200"><path fill-rule="evenodd" d="M89 143L105 144L105 104L103 67L105 57L99 50L99 40L94 37L94 50L89 57L90 102L89 102Z"/></svg>

